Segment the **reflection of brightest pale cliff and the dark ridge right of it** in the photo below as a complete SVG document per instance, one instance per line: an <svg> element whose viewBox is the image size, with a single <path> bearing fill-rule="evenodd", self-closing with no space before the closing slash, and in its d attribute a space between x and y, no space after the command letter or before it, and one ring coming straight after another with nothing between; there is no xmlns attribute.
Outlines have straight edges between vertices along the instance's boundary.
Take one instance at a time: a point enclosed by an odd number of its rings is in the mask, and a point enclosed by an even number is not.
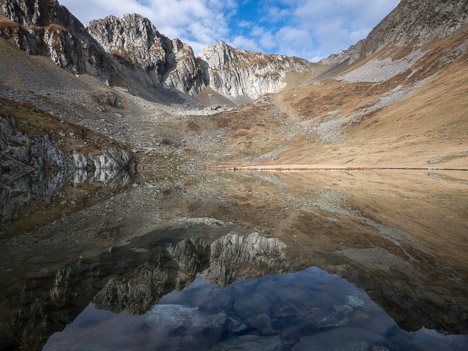
<svg viewBox="0 0 468 351"><path fill-rule="evenodd" d="M380 262L385 260L384 252L379 252ZM402 261L396 256L394 259ZM405 330L417 331L426 327L451 334L468 332L466 291L453 286L449 277L438 276L439 281L432 285L413 277L411 271L406 275L396 269L368 269L358 261L344 258L341 253L316 249L291 254L282 241L256 233L248 237L229 234L216 240L211 246L210 266L202 276L213 284L226 287L237 280L297 272L309 266L338 274L366 290ZM438 269L443 271L443 267ZM440 287L440 279L444 278L447 278L446 288Z"/></svg>

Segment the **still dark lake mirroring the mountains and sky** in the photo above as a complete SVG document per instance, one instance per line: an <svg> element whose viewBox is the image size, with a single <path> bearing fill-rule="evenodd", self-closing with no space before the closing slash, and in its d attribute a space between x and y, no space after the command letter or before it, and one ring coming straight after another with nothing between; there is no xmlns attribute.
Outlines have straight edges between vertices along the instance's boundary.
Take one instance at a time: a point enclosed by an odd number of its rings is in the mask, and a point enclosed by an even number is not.
<svg viewBox="0 0 468 351"><path fill-rule="evenodd" d="M463 173L134 184L15 202L0 349L468 349Z"/></svg>

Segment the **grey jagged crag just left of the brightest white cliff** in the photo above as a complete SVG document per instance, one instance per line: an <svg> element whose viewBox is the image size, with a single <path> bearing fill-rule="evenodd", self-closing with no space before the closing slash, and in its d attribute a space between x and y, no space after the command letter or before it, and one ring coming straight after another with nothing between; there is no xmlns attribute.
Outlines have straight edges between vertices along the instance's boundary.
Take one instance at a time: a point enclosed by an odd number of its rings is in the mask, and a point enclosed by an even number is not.
<svg viewBox="0 0 468 351"><path fill-rule="evenodd" d="M165 84L190 95L205 87L192 48L165 37L147 18L108 16L87 23L86 29L122 64L143 69L152 85Z"/></svg>

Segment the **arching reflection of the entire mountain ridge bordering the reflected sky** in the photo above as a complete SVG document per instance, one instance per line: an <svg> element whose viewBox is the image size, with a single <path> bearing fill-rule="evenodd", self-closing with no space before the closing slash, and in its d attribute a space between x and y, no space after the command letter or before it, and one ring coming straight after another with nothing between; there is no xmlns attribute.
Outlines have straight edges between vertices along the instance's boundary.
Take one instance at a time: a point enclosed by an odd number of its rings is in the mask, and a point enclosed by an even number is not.
<svg viewBox="0 0 468 351"><path fill-rule="evenodd" d="M81 258L42 278L18 283L17 289L11 287L1 297L2 310L10 311L4 317L9 314L11 319L2 324L16 331L20 345L39 349L90 302L99 309L142 314L162 296L191 284L197 273L224 287L236 280L318 265L369 291L391 316L405 321L405 328L466 332L466 299L457 290L419 285L423 282L397 271L368 271L339 254L292 249L292 243L286 246L232 224L179 221L95 258Z"/></svg>

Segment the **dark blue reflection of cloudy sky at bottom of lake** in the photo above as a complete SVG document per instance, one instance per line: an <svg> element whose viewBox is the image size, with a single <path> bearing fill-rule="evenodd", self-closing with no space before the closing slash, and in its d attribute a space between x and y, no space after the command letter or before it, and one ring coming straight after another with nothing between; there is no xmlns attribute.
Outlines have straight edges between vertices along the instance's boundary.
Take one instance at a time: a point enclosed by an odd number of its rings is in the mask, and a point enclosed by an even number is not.
<svg viewBox="0 0 468 351"><path fill-rule="evenodd" d="M225 289L197 276L142 316L89 306L52 335L44 350L197 350L216 344L217 350L222 345L269 349L281 343L294 345L293 350L315 345L317 350L385 346L443 351L468 349L468 336L402 331L362 289L309 268Z"/></svg>

